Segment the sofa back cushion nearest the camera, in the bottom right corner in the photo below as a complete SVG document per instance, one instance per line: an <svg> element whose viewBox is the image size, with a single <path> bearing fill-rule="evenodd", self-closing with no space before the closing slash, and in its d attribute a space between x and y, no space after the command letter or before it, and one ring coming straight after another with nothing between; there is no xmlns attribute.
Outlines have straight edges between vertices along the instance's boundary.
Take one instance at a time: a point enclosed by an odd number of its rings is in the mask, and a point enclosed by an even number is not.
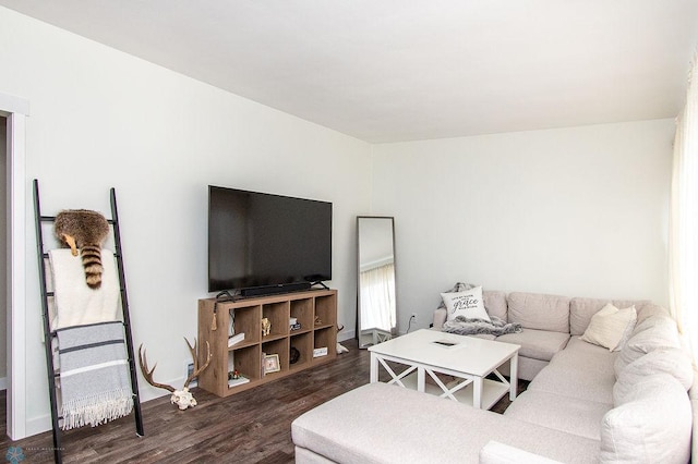
<svg viewBox="0 0 698 464"><path fill-rule="evenodd" d="M601 462L688 462L690 401L675 378L649 376L623 400L601 423Z"/></svg>

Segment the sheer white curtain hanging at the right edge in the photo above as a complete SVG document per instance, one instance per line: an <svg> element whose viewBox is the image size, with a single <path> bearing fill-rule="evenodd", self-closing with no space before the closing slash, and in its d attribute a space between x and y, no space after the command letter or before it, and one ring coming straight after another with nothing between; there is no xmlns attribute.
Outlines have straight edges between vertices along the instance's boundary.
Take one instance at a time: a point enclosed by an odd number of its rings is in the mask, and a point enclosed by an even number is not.
<svg viewBox="0 0 698 464"><path fill-rule="evenodd" d="M698 58L698 56L696 57ZM698 359L698 65L676 120L670 219L671 310Z"/></svg>

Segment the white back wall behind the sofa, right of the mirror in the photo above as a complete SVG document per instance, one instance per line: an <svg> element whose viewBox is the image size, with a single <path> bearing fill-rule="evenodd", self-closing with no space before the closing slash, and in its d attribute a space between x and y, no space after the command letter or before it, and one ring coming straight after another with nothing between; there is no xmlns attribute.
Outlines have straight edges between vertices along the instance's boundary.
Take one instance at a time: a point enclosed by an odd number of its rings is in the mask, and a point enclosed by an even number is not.
<svg viewBox="0 0 698 464"><path fill-rule="evenodd" d="M400 329L457 281L667 303L673 120L377 145Z"/></svg>

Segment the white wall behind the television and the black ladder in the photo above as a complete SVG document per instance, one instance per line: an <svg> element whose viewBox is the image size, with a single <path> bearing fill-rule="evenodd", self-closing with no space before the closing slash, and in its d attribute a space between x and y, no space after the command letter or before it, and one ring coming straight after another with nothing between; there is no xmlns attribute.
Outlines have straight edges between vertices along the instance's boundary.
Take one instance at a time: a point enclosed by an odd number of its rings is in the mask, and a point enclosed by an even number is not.
<svg viewBox="0 0 698 464"><path fill-rule="evenodd" d="M370 208L371 147L0 8L0 91L26 98L26 192L46 213L108 213L117 190L136 346L181 383L206 297L207 185L334 203L339 323L354 327L354 217ZM34 212L26 209L27 431L49 428ZM166 393L141 379L144 398Z"/></svg>

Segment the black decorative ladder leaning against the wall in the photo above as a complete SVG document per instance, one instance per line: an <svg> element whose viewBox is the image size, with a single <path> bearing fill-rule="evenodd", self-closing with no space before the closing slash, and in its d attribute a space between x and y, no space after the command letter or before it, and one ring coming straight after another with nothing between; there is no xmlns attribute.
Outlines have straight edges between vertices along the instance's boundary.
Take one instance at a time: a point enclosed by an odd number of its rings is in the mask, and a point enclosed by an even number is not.
<svg viewBox="0 0 698 464"><path fill-rule="evenodd" d="M141 399L139 396L139 382L136 377L135 357L133 355L133 338L131 335L131 319L129 317L129 298L127 296L127 282L125 274L123 272L123 256L121 254L121 233L119 230L119 215L117 212L117 194L113 187L110 190L111 199L111 219L107 222L112 227L113 240L115 240L115 257L117 259L117 269L119 272L119 288L121 292L121 312L123 317L123 327L125 331L127 341L127 354L129 357L129 371L131 375L131 391L133 394L133 412L135 416L135 430L139 437L143 437L143 416L141 414ZM58 402L56 391L56 379L59 374L56 371L53 365L53 340L56 339L56 332L51 330L51 322L49 317L49 304L48 298L53 296L53 292L47 291L46 288L46 260L48 259L48 253L44 249L44 233L41 230L43 223L52 223L56 221L55 216L41 216L40 203L39 203L39 183L38 180L34 180L34 213L36 216L36 246L39 266L39 283L41 286L41 309L44 313L44 345L46 350L46 368L48 371L48 388L49 400L51 406L51 424L53 428L53 459L57 464L62 463L62 447L61 447L61 429L59 420L62 419L58 414Z"/></svg>

